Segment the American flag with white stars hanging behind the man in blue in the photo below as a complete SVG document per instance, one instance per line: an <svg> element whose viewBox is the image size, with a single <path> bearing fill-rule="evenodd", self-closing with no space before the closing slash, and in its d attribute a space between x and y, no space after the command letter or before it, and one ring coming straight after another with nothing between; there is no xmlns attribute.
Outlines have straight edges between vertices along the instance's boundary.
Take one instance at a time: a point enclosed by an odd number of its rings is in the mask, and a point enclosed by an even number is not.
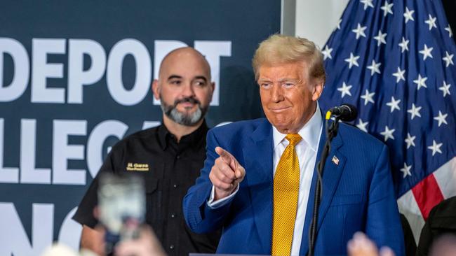
<svg viewBox="0 0 456 256"><path fill-rule="evenodd" d="M351 0L322 49L323 111L358 107L354 125L389 146L398 205L420 235L456 195L456 46L440 0Z"/></svg>

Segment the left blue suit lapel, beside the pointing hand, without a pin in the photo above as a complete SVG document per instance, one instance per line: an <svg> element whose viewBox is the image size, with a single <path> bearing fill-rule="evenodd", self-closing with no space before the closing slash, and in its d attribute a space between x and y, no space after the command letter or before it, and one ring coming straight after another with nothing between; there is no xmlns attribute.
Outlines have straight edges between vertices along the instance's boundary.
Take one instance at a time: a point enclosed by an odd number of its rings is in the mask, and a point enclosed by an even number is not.
<svg viewBox="0 0 456 256"><path fill-rule="evenodd" d="M253 214L264 252L271 251L272 236L272 130L264 120L245 141L243 157Z"/></svg>

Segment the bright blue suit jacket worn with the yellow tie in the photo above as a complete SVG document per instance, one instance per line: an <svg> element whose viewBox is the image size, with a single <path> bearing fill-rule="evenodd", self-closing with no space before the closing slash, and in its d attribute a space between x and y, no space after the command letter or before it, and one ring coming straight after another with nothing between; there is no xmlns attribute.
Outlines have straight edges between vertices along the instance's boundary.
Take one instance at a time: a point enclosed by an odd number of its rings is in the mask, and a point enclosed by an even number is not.
<svg viewBox="0 0 456 256"><path fill-rule="evenodd" d="M324 129L324 127L323 127ZM323 131L317 162L326 142ZM206 202L212 183L210 169L220 146L236 157L246 177L229 204L211 209ZM223 228L217 253L271 253L273 138L266 119L235 122L208 132L206 162L183 207L194 232ZM339 159L335 164L333 156ZM309 226L316 174L311 182L300 255L309 250ZM316 255L345 255L354 232L365 232L377 246L403 255L403 232L389 167L386 145L355 127L340 124L323 172L323 199L318 216Z"/></svg>

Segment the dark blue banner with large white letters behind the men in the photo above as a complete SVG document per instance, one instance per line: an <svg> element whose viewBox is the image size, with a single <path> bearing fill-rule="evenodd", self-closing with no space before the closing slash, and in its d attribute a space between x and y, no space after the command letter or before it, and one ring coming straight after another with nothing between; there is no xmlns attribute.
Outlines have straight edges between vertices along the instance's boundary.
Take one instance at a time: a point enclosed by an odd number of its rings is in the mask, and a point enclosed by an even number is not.
<svg viewBox="0 0 456 256"><path fill-rule="evenodd" d="M158 125L161 59L192 46L216 90L208 125L262 116L251 58L281 2L11 1L0 8L0 255L79 245L71 220L110 147Z"/></svg>

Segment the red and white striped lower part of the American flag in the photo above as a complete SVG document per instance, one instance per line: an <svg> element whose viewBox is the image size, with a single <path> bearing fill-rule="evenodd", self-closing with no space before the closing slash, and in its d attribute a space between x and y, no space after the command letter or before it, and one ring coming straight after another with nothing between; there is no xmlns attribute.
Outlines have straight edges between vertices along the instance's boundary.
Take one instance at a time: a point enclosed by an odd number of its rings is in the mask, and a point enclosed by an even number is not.
<svg viewBox="0 0 456 256"><path fill-rule="evenodd" d="M456 196L456 157L398 199L399 211L410 223L417 243L431 209L443 199L453 196Z"/></svg>

